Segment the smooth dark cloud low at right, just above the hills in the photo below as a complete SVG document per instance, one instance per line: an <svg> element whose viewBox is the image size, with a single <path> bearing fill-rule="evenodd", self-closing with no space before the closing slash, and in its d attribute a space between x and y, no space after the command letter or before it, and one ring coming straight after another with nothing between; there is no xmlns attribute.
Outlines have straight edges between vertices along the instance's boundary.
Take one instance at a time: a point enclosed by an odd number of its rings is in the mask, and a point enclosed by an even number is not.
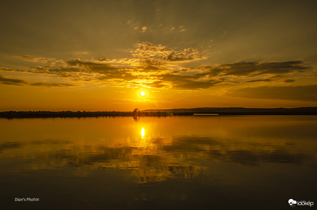
<svg viewBox="0 0 317 210"><path fill-rule="evenodd" d="M236 89L226 96L255 99L281 99L293 101L317 102L317 85L287 86L287 87L256 87Z"/></svg>

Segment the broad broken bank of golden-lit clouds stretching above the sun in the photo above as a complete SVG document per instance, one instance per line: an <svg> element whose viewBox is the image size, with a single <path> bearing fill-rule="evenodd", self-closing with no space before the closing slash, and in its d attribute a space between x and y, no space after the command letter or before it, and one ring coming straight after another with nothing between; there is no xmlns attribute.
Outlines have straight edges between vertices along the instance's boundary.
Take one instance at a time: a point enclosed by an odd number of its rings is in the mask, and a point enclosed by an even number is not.
<svg viewBox="0 0 317 210"><path fill-rule="evenodd" d="M175 30L184 29L183 26ZM138 30L140 30L138 28ZM147 30L147 28L146 28ZM253 88L263 82L273 85L291 83L315 75L315 67L301 60L286 62L236 62L217 65L204 65L189 68L188 63L205 59L200 49L175 49L149 42L135 43L130 50L131 56L118 59L91 58L82 60L57 60L53 58L35 58L26 55L18 57L36 62L29 69L0 68L0 71L52 75L65 82L31 82L2 77L3 84L32 85L45 87L71 87L75 85L109 85L113 87L146 87L152 89L210 89L215 86L224 90L230 85ZM45 65L38 65L38 62ZM49 65L48 65L49 63ZM194 63L190 64L195 65ZM252 79L250 79L252 78ZM42 78L40 78L42 79ZM252 83L252 84L251 84ZM314 84L314 83L313 83ZM244 95L247 94L244 89ZM238 93L238 92L237 92ZM240 92L239 92L240 93ZM244 97L244 96L243 96Z"/></svg>

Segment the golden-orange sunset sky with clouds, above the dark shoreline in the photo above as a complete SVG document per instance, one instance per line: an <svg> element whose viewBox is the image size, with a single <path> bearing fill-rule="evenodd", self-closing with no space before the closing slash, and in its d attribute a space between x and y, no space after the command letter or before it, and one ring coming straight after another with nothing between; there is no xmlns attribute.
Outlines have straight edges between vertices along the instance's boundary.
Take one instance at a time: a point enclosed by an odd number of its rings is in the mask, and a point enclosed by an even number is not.
<svg viewBox="0 0 317 210"><path fill-rule="evenodd" d="M309 0L0 1L0 111L317 106L316 10Z"/></svg>

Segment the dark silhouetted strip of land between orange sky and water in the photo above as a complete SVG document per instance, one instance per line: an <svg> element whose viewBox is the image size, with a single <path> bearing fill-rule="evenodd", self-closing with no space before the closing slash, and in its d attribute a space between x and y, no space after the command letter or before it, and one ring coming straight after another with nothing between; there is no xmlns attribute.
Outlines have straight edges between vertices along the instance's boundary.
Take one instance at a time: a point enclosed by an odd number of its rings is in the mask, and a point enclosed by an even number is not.
<svg viewBox="0 0 317 210"><path fill-rule="evenodd" d="M5 111L0 112L0 118L55 118L55 117L118 117L118 116L191 116L191 115L317 115L317 107L299 108L178 108L178 109L148 109L140 111L135 108L132 112L97 111Z"/></svg>

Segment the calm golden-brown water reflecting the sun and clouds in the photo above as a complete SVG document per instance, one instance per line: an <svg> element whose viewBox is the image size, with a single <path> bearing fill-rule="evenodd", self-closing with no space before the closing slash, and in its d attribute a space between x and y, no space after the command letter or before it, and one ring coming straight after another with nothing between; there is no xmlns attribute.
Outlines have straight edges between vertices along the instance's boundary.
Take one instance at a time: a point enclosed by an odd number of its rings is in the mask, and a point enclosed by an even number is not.
<svg viewBox="0 0 317 210"><path fill-rule="evenodd" d="M0 119L0 128L0 209L317 207L317 116Z"/></svg>

